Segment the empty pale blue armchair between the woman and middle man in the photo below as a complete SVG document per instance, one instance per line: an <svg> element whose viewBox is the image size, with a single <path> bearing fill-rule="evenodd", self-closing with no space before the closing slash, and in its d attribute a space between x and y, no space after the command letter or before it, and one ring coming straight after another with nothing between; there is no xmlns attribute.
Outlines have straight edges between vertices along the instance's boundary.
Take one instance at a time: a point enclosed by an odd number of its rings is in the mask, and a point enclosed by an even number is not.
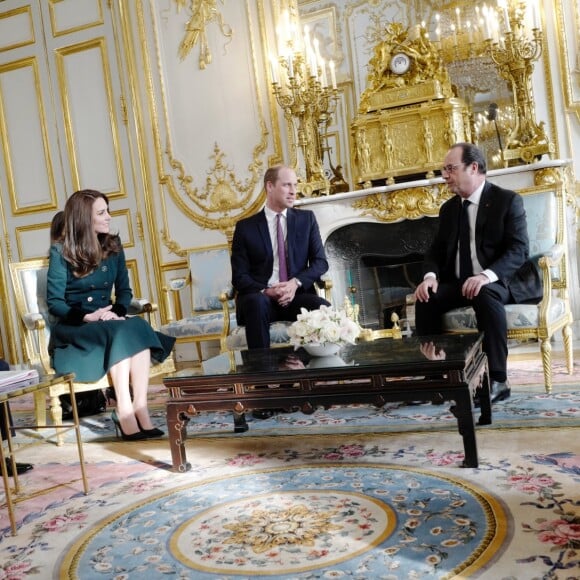
<svg viewBox="0 0 580 580"><path fill-rule="evenodd" d="M194 343L202 361L202 343L219 341L220 351L226 350L226 337L236 324L229 247L192 250L187 263L187 276L170 280L164 289L168 322L161 331L178 344ZM187 291L189 296L184 296ZM184 304L190 312L181 317Z"/></svg>

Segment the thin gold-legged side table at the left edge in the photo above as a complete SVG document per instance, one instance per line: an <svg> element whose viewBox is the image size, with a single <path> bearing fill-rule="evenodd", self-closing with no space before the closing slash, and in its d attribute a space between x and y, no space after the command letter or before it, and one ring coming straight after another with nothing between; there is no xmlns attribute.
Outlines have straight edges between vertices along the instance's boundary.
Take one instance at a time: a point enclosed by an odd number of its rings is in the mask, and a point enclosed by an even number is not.
<svg viewBox="0 0 580 580"><path fill-rule="evenodd" d="M33 385L28 386L6 386L0 389L0 412L4 413L4 418L6 419L6 426L7 426L7 453L4 453L4 445L0 443L0 461L2 462L0 465L6 465L5 461L9 460L12 466L12 479L14 480L14 490L11 489L10 481L8 478L7 469L2 469L2 479L4 482L4 493L6 495L6 508L8 510L8 517L10 519L10 526L12 528L12 535L16 535L17 527L16 527L16 517L14 514L14 505L16 503L26 501L30 499L30 497L26 495L22 495L17 498L13 498L14 495L20 494L20 484L18 481L18 474L16 473L16 459L15 459L15 450L12 441L12 430L18 429L56 429L58 435L62 435L71 429L75 430L76 434L76 441L77 441L77 449L79 453L79 462L81 468L81 477L83 481L83 489L85 495L89 493L89 484L88 479L85 471L85 458L83 454L83 442L81 439L81 430L79 425L79 415L77 412L77 405L75 400L74 394L74 387L73 387L73 380L74 374L66 374L66 375L48 375L48 376L41 376L40 381ZM73 421L72 423L65 423L62 426L55 427L54 425L27 425L24 427L10 427L9 426L9 416L8 416L8 405L7 403L11 399L16 399L17 397L21 397L22 395L27 395L29 393L36 393L43 389L48 389L54 385L58 385L61 383L66 383L69 388L71 405L72 405L72 412L73 412ZM45 492L51 491L57 486L53 486L45 490Z"/></svg>

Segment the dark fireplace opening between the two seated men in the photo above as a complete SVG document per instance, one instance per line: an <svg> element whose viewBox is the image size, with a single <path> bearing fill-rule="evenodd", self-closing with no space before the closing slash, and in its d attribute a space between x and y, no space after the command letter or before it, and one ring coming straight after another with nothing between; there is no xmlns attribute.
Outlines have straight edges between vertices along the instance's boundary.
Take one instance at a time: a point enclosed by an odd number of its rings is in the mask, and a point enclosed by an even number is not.
<svg viewBox="0 0 580 580"><path fill-rule="evenodd" d="M334 299L354 300L363 327L390 328L393 312L406 318L406 297L422 279L423 257L437 221L424 217L388 224L358 222L328 236L325 250Z"/></svg>

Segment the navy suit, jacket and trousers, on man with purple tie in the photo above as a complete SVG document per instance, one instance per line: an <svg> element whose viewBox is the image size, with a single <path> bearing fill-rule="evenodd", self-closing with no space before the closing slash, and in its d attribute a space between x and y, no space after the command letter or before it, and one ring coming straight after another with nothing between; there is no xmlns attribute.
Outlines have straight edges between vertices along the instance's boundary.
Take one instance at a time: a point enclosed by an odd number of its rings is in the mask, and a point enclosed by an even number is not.
<svg viewBox="0 0 580 580"><path fill-rule="evenodd" d="M288 278L302 286L294 300L281 307L262 290L274 267L274 253L264 210L236 224L232 242L232 284L236 290L236 318L246 327L248 348L270 345L270 323L296 320L300 308L314 310L328 304L314 289L314 283L328 270L328 262L314 214L288 209L286 214Z"/></svg>

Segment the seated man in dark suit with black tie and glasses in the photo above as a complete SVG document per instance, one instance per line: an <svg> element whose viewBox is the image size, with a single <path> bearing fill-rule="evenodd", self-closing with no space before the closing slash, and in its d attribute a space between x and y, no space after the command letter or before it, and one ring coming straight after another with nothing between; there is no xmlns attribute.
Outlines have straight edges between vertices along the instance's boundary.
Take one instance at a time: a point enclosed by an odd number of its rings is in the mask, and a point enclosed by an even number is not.
<svg viewBox="0 0 580 580"><path fill-rule="evenodd" d="M537 301L542 286L527 262L522 198L486 181L486 172L483 153L470 143L454 145L445 156L441 174L456 196L441 206L439 229L425 256L424 278L415 290L415 318L417 334L440 334L445 312L473 307L478 329L484 333L496 402L510 396L504 304ZM469 244L463 244L465 253L460 242L462 212L467 213L463 223L469 236Z"/></svg>

